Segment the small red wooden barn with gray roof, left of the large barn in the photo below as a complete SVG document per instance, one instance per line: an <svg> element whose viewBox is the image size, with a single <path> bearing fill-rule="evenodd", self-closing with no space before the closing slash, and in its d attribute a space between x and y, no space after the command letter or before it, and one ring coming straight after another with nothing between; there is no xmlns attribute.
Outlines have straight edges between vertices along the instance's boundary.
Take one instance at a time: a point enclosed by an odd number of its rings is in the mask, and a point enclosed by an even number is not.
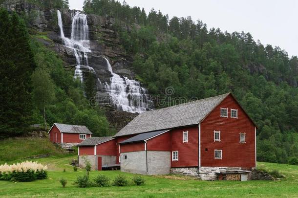
<svg viewBox="0 0 298 198"><path fill-rule="evenodd" d="M49 140L53 143L80 143L91 134L86 126L59 123L54 123L48 132Z"/></svg>

